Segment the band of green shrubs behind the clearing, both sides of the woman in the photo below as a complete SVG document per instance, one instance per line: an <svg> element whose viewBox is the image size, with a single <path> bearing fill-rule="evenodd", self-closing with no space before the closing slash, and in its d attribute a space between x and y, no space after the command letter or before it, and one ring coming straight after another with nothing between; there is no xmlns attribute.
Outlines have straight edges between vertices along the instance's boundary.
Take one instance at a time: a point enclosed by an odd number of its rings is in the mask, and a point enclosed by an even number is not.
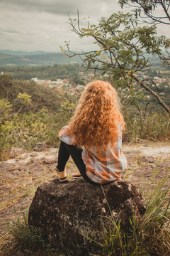
<svg viewBox="0 0 170 256"><path fill-rule="evenodd" d="M67 90L59 93L35 82L13 80L8 75L0 76L0 85L0 160L8 159L8 150L13 146L30 150L41 141L58 146L57 134L74 113L77 97L68 95ZM123 102L125 141L170 138L167 114L141 111L141 122L136 108L128 106L129 101ZM139 102L142 104L142 99ZM157 109L157 105L151 106Z"/></svg>

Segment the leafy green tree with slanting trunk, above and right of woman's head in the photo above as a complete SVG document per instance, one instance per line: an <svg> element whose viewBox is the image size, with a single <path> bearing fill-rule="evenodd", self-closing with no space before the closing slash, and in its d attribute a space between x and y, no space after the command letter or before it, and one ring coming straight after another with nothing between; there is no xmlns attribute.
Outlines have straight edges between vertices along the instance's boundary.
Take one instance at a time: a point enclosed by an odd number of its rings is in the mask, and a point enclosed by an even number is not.
<svg viewBox="0 0 170 256"><path fill-rule="evenodd" d="M98 50L75 53L69 49L69 43L67 43L67 50L61 48L67 57L79 55L84 62L84 67L94 69L95 73L96 70L102 70L102 75L109 75L112 84L123 92L122 100L128 98L132 104L137 105L141 120L142 112L137 104L137 97L141 97L142 92L135 91L137 85L134 82L145 88L169 113L169 107L159 97L158 88L157 92L154 92L150 86L146 85L146 79L137 78L137 71L145 72L151 67L149 58L146 57L147 53L162 55L161 47L165 37L157 36L155 25L141 28L137 26L137 20L132 14L123 13L101 18L98 25L88 23L87 28L80 28L79 17L75 24L72 18L69 18L69 24L72 26L72 31L80 38L86 36L94 38ZM157 87L155 84L154 86ZM128 94L125 93L125 88L128 88Z"/></svg>

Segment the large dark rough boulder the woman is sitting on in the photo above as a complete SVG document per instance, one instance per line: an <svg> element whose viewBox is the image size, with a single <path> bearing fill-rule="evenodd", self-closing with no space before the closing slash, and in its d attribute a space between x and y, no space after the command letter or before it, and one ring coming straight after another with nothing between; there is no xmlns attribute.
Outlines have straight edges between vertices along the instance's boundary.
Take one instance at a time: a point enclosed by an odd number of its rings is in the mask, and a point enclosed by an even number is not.
<svg viewBox="0 0 170 256"><path fill-rule="evenodd" d="M104 196L104 193L106 198ZM60 252L81 247L82 255L97 250L98 245L87 238L103 242L104 229L111 223L111 212L116 219L120 213L121 230L130 233L133 213L140 218L145 205L137 187L115 181L109 185L93 186L84 179L58 183L57 179L42 183L30 206L28 223L37 228ZM85 237L85 236L87 237Z"/></svg>

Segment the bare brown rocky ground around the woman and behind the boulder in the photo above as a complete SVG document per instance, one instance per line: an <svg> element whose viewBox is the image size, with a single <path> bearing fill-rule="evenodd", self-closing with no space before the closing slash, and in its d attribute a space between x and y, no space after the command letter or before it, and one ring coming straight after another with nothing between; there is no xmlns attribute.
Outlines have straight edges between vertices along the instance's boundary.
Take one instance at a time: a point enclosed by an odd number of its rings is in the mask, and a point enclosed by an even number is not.
<svg viewBox="0 0 170 256"><path fill-rule="evenodd" d="M42 147L41 147L42 146ZM9 159L0 162L0 255L37 255L28 250L14 249L13 238L8 234L8 223L20 218L29 208L40 183L55 178L58 149L47 149L38 144L34 151L11 149ZM128 169L123 181L140 188L143 197L157 186L170 170L170 142L125 144L123 153L128 159ZM68 178L77 171L72 159L67 163ZM163 189L170 186L170 178Z"/></svg>

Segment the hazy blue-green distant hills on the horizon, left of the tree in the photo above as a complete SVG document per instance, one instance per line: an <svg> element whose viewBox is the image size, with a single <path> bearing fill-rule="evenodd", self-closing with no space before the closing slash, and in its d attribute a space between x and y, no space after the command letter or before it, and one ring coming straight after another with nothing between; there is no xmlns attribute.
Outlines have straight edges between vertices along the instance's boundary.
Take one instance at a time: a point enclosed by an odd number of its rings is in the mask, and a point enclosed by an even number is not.
<svg viewBox="0 0 170 256"><path fill-rule="evenodd" d="M0 67L36 67L38 65L54 65L54 64L69 64L69 63L81 63L79 56L73 58L66 58L62 53L44 53L39 52L39 54L29 54L29 55L11 55L6 53L1 53L0 50ZM14 52L15 53L15 52ZM26 53L26 52L19 52ZM38 52L35 52L38 53ZM40 54L42 53L42 54Z"/></svg>

